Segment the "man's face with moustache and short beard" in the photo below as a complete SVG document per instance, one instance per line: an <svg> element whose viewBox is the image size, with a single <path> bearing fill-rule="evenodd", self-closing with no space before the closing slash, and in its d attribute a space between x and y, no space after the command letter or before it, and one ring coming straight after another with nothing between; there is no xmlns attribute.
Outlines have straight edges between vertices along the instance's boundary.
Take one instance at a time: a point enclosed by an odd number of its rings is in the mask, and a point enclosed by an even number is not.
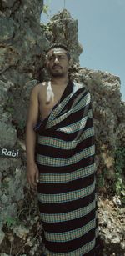
<svg viewBox="0 0 125 256"><path fill-rule="evenodd" d="M68 73L69 59L67 51L53 48L47 53L47 69L52 77L64 77Z"/></svg>

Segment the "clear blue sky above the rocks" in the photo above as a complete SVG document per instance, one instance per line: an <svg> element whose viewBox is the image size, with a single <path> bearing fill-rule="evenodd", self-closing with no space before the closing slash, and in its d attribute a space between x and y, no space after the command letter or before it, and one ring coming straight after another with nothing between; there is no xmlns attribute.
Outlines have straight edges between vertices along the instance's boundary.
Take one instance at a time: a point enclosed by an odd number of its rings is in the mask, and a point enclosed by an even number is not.
<svg viewBox="0 0 125 256"><path fill-rule="evenodd" d="M66 8L78 20L81 67L107 71L121 78L125 101L125 0L44 0L49 18ZM42 13L42 23L49 22Z"/></svg>

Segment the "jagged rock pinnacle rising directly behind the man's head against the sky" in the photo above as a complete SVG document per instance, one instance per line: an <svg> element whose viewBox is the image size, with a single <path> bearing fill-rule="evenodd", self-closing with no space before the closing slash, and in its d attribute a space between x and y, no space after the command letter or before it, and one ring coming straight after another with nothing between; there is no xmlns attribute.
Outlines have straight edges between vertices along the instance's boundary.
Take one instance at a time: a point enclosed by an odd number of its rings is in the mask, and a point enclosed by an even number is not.
<svg viewBox="0 0 125 256"><path fill-rule="evenodd" d="M77 20L72 19L70 13L64 9L52 17L50 23L44 27L44 32L50 43L65 42L70 49L73 62L79 63L82 45L77 40L77 29Z"/></svg>

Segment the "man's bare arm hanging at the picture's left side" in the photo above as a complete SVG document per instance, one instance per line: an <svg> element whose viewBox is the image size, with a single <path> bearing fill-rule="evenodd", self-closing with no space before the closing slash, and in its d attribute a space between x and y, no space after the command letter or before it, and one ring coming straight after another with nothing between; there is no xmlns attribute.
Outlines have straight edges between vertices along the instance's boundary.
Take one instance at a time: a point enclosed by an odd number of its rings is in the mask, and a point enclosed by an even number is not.
<svg viewBox="0 0 125 256"><path fill-rule="evenodd" d="M28 120L26 128L26 152L27 152L27 177L28 183L33 187L36 187L38 180L38 169L35 163L35 145L36 145L36 133L33 128L37 123L38 118L38 86L32 89L29 109Z"/></svg>

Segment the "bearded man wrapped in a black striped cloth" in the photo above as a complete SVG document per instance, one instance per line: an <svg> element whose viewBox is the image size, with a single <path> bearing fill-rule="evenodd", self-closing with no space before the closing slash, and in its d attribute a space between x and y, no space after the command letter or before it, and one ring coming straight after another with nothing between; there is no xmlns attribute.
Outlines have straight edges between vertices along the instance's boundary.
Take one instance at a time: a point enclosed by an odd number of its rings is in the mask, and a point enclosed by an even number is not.
<svg viewBox="0 0 125 256"><path fill-rule="evenodd" d="M26 134L28 182L37 186L42 252L94 256L97 207L91 100L83 84L69 80L69 63L66 46L52 45L46 63L51 81L32 89Z"/></svg>

